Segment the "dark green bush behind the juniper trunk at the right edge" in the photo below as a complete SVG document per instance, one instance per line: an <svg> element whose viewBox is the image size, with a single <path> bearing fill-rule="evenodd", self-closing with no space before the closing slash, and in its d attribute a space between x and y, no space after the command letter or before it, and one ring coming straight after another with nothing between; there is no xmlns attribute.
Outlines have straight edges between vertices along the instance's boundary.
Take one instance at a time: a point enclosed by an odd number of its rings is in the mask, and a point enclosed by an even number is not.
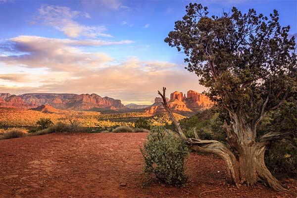
<svg viewBox="0 0 297 198"><path fill-rule="evenodd" d="M297 176L297 102L290 99L271 112L259 126L259 135L268 132L290 132L285 140L277 140L266 149L265 163L277 177Z"/></svg>

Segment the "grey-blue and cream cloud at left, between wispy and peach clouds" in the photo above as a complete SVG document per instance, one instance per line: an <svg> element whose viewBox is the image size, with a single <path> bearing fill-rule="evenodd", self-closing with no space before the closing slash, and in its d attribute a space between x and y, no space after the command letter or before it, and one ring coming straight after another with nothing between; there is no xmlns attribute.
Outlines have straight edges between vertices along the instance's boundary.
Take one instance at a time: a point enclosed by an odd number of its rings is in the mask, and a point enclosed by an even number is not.
<svg viewBox="0 0 297 198"><path fill-rule="evenodd" d="M51 39L37 36L19 36L0 43L0 62L29 68L46 67L54 71L80 71L96 68L113 58L102 52L87 52L83 46L129 44L132 41L107 42L101 40Z"/></svg>

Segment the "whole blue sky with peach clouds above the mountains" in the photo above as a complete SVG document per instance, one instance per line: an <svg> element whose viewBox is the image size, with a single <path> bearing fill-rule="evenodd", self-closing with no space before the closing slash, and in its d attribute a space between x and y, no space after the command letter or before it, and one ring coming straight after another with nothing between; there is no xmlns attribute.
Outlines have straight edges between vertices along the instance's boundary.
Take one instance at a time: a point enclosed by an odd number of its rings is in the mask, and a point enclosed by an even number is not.
<svg viewBox="0 0 297 198"><path fill-rule="evenodd" d="M150 104L157 90L202 92L164 43L190 2L221 15L254 8L297 34L297 0L0 0L0 93L98 94Z"/></svg>

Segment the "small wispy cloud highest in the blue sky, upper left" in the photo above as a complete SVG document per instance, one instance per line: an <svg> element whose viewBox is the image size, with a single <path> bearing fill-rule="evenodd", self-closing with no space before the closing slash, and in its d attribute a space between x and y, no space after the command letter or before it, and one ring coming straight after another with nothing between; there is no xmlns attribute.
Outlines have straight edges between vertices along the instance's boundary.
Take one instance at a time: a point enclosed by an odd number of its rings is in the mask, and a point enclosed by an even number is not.
<svg viewBox="0 0 297 198"><path fill-rule="evenodd" d="M109 37L111 35L103 33L106 31L105 26L85 26L77 23L74 19L78 17L91 18L87 12L72 11L69 7L42 5L39 8L39 16L35 16L37 21L44 25L54 27L63 32L67 37L77 38L80 36L96 38Z"/></svg>

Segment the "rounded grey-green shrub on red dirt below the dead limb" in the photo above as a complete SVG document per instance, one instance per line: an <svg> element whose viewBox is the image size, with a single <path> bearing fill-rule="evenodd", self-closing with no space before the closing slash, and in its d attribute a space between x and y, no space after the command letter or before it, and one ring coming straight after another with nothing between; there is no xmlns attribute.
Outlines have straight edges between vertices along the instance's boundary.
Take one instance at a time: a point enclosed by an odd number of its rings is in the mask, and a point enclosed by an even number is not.
<svg viewBox="0 0 297 198"><path fill-rule="evenodd" d="M184 165L190 150L181 139L167 133L163 127L153 127L141 152L145 161L144 173L149 178L154 175L166 185L185 184Z"/></svg>

